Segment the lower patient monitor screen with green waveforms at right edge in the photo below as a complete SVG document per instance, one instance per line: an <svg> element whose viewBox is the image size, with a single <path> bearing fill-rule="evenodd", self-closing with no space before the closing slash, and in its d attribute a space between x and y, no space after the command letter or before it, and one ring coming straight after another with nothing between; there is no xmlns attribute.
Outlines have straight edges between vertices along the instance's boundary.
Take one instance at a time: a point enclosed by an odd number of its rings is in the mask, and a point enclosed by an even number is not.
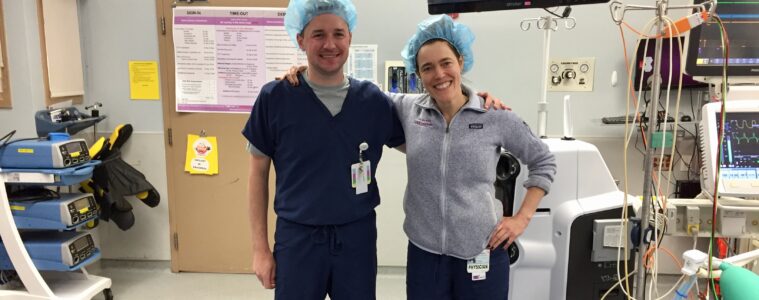
<svg viewBox="0 0 759 300"><path fill-rule="evenodd" d="M759 112L725 113L724 136L720 177L759 179Z"/></svg>

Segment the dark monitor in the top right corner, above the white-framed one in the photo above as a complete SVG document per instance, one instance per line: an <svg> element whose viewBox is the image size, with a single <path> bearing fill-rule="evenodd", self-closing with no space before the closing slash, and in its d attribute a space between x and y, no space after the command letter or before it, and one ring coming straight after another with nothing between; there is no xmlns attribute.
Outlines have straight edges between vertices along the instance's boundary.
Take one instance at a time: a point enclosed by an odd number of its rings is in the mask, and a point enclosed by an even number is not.
<svg viewBox="0 0 759 300"><path fill-rule="evenodd" d="M719 2L717 15L725 24L730 39L728 75L759 76L759 2ZM686 73L694 77L722 76L724 60L720 30L716 22L704 23L690 31Z"/></svg>

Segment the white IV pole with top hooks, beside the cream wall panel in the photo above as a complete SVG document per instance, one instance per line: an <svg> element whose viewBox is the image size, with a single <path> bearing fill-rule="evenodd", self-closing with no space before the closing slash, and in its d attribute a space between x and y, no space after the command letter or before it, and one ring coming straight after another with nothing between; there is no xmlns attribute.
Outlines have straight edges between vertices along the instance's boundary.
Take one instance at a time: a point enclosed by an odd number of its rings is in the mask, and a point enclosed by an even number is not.
<svg viewBox="0 0 759 300"><path fill-rule="evenodd" d="M546 138L546 127L548 124L548 63L551 52L551 32L559 29L558 20L564 21L564 27L572 30L577 25L577 21L572 17L554 17L551 15L540 18L528 18L519 23L523 31L530 30L534 22L538 29L543 30L543 85L540 88L540 101L538 101L538 137Z"/></svg>

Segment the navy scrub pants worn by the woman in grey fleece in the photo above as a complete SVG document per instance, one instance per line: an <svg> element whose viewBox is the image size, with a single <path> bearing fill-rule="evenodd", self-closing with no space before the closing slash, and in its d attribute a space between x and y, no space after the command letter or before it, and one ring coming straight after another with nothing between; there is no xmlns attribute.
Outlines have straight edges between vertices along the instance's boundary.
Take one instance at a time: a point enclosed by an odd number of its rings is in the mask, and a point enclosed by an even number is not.
<svg viewBox="0 0 759 300"><path fill-rule="evenodd" d="M490 251L485 280L472 281L466 260L433 254L408 244L408 300L505 300L509 297L509 255L503 245Z"/></svg>

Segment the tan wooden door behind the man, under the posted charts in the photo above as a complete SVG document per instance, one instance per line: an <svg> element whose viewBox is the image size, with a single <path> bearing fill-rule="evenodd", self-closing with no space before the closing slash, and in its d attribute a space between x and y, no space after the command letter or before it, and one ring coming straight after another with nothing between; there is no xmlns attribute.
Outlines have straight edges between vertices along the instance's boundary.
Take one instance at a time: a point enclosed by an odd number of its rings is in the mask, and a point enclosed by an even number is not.
<svg viewBox="0 0 759 300"><path fill-rule="evenodd" d="M175 4L176 3L176 4ZM240 134L248 114L176 112L172 5L224 7L285 7L287 0L156 0L161 85L166 130L171 270L174 272L251 273L252 247L248 215L248 165ZM252 101L253 99L251 99ZM184 172L188 134L204 130L216 136L219 174ZM272 168L273 170L274 168ZM269 183L273 196L273 174ZM270 199L270 203L271 199ZM269 231L274 215L269 212ZM272 234L269 241L271 245Z"/></svg>

